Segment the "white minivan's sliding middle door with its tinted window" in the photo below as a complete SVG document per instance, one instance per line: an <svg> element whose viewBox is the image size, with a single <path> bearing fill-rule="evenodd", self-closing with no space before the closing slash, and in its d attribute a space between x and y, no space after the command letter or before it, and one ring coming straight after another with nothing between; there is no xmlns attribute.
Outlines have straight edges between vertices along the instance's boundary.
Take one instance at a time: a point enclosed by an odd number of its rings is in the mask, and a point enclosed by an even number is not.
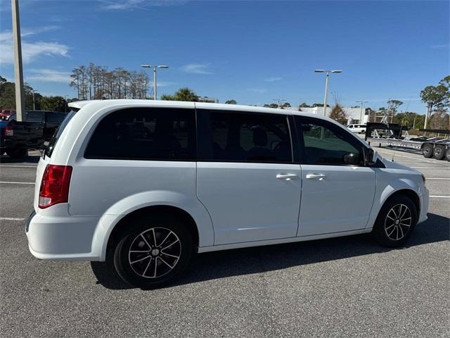
<svg viewBox="0 0 450 338"><path fill-rule="evenodd" d="M301 169L288 117L197 109L197 194L214 244L295 237Z"/></svg>

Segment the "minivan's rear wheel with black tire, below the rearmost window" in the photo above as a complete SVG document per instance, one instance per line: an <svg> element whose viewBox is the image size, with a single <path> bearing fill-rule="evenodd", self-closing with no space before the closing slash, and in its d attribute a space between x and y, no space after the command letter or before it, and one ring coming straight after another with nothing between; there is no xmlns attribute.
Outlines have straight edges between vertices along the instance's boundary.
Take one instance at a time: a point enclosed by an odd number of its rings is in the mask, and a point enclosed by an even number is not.
<svg viewBox="0 0 450 338"><path fill-rule="evenodd" d="M162 244L172 242L169 248L163 248ZM114 265L126 282L142 289L155 289L172 282L186 269L192 252L192 234L184 223L176 218L143 216L129 222L115 247Z"/></svg>

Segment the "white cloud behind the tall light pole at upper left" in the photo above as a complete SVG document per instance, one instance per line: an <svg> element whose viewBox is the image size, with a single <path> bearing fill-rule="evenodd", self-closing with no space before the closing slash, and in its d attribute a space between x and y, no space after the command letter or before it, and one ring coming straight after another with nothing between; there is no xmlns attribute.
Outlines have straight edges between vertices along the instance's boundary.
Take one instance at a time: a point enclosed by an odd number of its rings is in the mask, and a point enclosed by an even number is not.
<svg viewBox="0 0 450 338"><path fill-rule="evenodd" d="M37 35L49 30L55 30L58 26L44 26L36 29L24 29L22 37ZM0 63L14 63L13 32L0 33ZM22 42L22 59L24 63L30 63L42 55L68 56L69 46L59 42Z"/></svg>

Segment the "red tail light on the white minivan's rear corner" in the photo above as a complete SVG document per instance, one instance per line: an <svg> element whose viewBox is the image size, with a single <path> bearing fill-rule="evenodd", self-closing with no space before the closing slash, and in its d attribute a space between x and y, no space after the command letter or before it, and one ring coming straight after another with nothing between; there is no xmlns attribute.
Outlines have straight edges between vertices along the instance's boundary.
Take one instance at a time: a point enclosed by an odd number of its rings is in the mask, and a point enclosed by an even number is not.
<svg viewBox="0 0 450 338"><path fill-rule="evenodd" d="M49 208L58 203L67 203L69 184L72 176L70 165L48 164L42 175L39 189L39 208Z"/></svg>

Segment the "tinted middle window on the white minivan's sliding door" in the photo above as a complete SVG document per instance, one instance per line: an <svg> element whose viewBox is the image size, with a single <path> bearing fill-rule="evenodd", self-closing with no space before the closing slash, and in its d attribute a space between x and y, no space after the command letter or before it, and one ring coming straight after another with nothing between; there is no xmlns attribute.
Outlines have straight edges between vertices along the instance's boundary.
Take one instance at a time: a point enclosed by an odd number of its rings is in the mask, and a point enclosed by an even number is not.
<svg viewBox="0 0 450 338"><path fill-rule="evenodd" d="M210 111L207 120L207 160L291 162L285 115Z"/></svg>

